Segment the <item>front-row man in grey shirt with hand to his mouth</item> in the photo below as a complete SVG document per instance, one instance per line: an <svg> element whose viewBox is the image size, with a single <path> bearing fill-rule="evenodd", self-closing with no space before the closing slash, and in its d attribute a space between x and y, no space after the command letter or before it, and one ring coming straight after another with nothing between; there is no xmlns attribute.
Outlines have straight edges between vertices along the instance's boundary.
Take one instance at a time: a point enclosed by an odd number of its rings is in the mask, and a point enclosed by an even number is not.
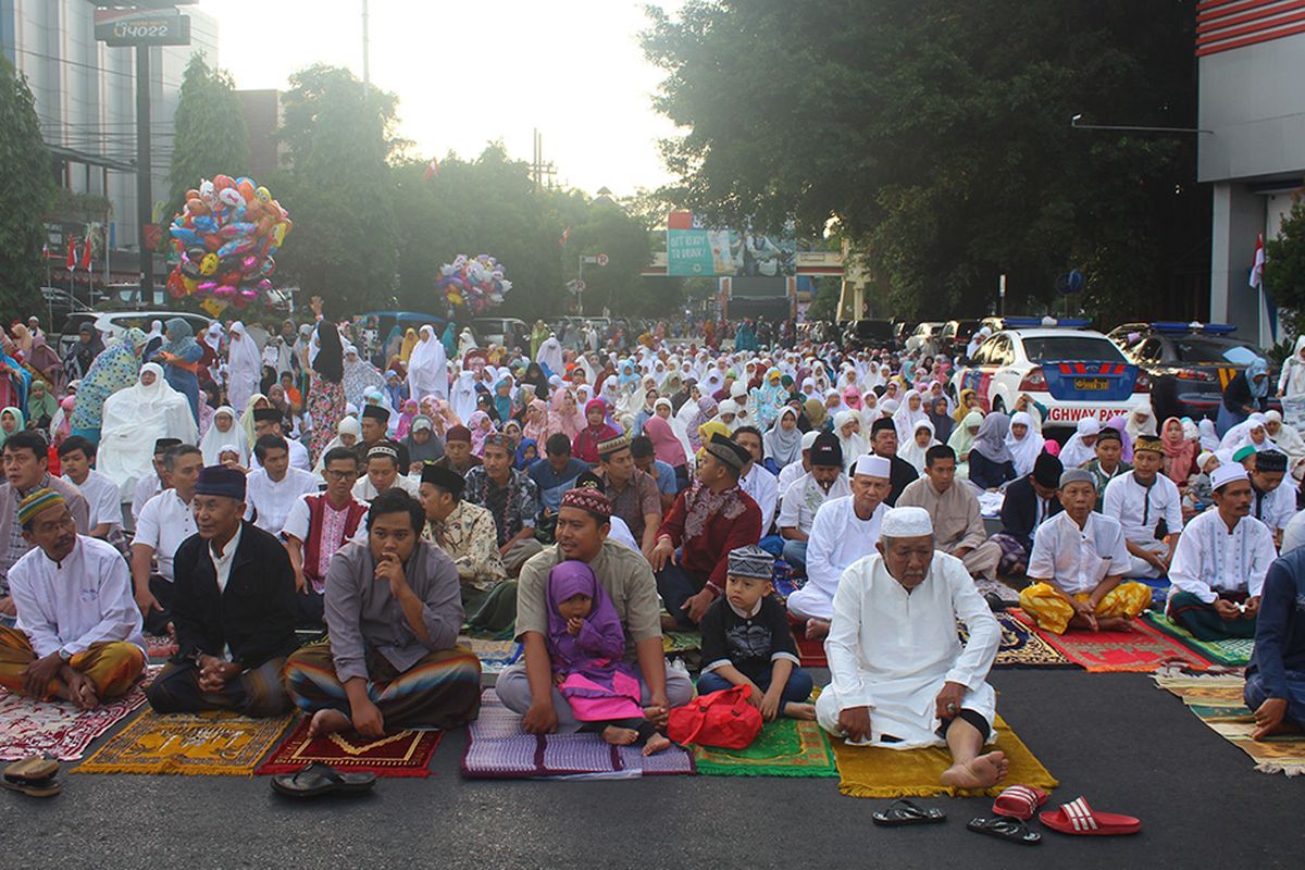
<svg viewBox="0 0 1305 870"><path fill-rule="evenodd" d="M455 646L458 569L422 539L422 503L386 489L326 571L328 639L286 661L286 687L313 736L457 728L480 711L480 661Z"/></svg>

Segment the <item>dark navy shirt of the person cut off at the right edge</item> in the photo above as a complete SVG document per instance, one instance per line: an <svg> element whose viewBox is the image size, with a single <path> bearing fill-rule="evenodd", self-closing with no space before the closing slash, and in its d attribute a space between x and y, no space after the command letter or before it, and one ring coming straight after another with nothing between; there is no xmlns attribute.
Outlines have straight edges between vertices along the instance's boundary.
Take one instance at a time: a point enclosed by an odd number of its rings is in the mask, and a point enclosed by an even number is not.
<svg viewBox="0 0 1305 870"><path fill-rule="evenodd" d="M1305 672L1305 548L1268 566L1246 676L1259 672L1265 694L1288 700L1288 670Z"/></svg>

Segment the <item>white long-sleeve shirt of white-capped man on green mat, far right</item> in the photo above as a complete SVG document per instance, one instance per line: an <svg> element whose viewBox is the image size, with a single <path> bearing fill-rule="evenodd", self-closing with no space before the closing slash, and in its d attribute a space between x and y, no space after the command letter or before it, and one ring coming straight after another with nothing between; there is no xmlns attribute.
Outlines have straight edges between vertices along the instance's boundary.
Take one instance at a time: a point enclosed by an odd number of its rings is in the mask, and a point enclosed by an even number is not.
<svg viewBox="0 0 1305 870"><path fill-rule="evenodd" d="M1169 563L1169 597L1190 592L1214 604L1220 591L1258 596L1275 558L1274 536L1267 526L1254 517L1242 517L1229 533L1219 510L1211 507L1188 523L1178 539Z"/></svg>

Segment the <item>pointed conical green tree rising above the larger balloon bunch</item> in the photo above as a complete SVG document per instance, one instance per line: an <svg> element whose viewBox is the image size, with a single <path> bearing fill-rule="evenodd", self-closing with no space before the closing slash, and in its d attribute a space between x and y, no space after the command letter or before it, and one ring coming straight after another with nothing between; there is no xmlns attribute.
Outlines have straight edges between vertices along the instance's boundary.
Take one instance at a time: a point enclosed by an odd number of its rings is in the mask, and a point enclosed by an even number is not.
<svg viewBox="0 0 1305 870"><path fill-rule="evenodd" d="M200 179L247 175L248 140L240 98L230 73L210 68L204 55L196 53L181 77L176 104L176 136L168 172L171 207L164 219L181 210L185 192L197 187Z"/></svg>

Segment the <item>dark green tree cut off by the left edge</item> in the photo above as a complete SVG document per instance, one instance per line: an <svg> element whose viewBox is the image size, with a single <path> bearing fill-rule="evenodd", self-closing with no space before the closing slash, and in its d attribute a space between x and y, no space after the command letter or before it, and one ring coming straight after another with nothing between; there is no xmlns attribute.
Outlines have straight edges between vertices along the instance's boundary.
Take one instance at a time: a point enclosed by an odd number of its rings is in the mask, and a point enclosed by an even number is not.
<svg viewBox="0 0 1305 870"><path fill-rule="evenodd" d="M42 214L54 193L50 151L26 78L0 57L0 310L7 317L40 305L44 277Z"/></svg>

